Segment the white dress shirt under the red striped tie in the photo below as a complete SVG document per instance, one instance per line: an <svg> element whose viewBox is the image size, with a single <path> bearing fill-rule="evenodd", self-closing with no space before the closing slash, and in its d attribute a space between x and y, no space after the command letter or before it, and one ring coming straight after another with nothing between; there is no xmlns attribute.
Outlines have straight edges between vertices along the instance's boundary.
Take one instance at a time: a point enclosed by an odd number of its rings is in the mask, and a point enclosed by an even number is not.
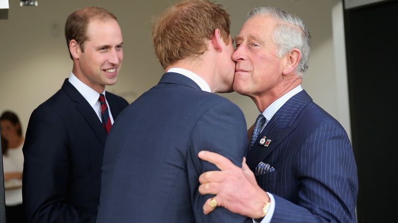
<svg viewBox="0 0 398 223"><path fill-rule="evenodd" d="M102 123L102 113L101 113L101 102L99 102L99 94L94 91L92 88L88 87L85 83L79 80L72 72L70 72L70 76L68 81L75 87L79 93L87 100L87 102L91 105L92 109L94 109L95 114L97 114L99 121ZM113 124L113 117L111 113L111 107L108 104L107 96L105 95L105 91L102 93L105 96L105 101L107 102L109 117L111 118L111 123Z"/></svg>

